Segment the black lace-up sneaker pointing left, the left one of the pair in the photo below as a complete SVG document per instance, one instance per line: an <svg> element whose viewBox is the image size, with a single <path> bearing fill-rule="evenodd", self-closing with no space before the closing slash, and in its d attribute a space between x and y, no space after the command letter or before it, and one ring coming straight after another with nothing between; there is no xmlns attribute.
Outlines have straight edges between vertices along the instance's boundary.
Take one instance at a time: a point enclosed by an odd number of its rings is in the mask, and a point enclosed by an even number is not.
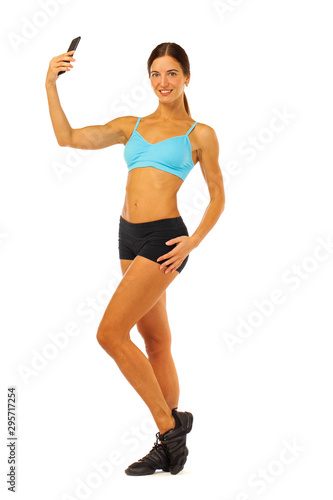
<svg viewBox="0 0 333 500"><path fill-rule="evenodd" d="M163 469L164 472L170 472L168 456L164 447L158 443L159 433L156 434L156 438L151 451L125 470L128 476L147 476L149 474L154 474L157 469Z"/></svg>

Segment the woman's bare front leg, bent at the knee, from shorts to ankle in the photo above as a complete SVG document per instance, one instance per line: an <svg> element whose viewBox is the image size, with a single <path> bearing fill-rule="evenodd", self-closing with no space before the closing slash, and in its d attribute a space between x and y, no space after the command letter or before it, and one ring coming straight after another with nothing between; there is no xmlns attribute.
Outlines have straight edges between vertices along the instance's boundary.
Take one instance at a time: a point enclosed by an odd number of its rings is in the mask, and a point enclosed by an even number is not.
<svg viewBox="0 0 333 500"><path fill-rule="evenodd" d="M152 364L130 340L129 332L178 274L165 274L158 263L137 256L111 297L97 332L98 342L147 404L161 434L172 429L175 420Z"/></svg>

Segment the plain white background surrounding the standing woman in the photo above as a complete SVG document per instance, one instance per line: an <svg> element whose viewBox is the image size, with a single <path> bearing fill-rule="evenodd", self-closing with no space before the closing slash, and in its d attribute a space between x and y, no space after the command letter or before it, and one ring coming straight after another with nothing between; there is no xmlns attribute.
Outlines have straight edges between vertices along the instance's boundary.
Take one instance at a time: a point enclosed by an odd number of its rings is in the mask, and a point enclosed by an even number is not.
<svg viewBox="0 0 333 500"><path fill-rule="evenodd" d="M13 498L6 394L14 385L17 499L332 496L330 7L2 4L1 495ZM219 139L225 210L167 292L179 409L194 415L177 476L124 474L157 428L96 340L121 279L123 145L61 148L44 86L50 59L77 36L74 69L57 82L72 127L152 113L147 59L171 41L190 58L192 118ZM192 234L208 203L199 164L178 200ZM88 308L90 316L80 313ZM52 340L59 332L62 348ZM142 347L135 327L132 339ZM96 470L103 462L105 477Z"/></svg>

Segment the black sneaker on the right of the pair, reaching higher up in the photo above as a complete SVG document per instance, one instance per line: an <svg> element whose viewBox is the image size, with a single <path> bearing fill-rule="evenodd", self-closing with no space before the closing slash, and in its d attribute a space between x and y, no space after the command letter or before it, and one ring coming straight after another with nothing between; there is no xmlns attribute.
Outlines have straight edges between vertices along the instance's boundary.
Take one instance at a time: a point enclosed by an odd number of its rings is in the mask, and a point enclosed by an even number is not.
<svg viewBox="0 0 333 500"><path fill-rule="evenodd" d="M158 432L156 436L165 449L171 474L178 474L184 468L187 459L186 434L192 429L193 415L188 411L180 412L174 409L172 416L176 422L175 427L164 434Z"/></svg>

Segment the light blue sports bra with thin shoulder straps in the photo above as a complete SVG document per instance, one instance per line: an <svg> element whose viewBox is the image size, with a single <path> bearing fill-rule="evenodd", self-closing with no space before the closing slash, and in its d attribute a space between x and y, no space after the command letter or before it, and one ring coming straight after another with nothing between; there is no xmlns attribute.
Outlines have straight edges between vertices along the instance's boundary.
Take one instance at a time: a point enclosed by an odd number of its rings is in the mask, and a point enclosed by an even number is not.
<svg viewBox="0 0 333 500"><path fill-rule="evenodd" d="M124 149L128 171L138 167L154 167L177 175L184 181L194 167L191 141L188 135L198 122L195 122L184 135L177 135L152 144L136 130L140 120L141 117L138 118Z"/></svg>

